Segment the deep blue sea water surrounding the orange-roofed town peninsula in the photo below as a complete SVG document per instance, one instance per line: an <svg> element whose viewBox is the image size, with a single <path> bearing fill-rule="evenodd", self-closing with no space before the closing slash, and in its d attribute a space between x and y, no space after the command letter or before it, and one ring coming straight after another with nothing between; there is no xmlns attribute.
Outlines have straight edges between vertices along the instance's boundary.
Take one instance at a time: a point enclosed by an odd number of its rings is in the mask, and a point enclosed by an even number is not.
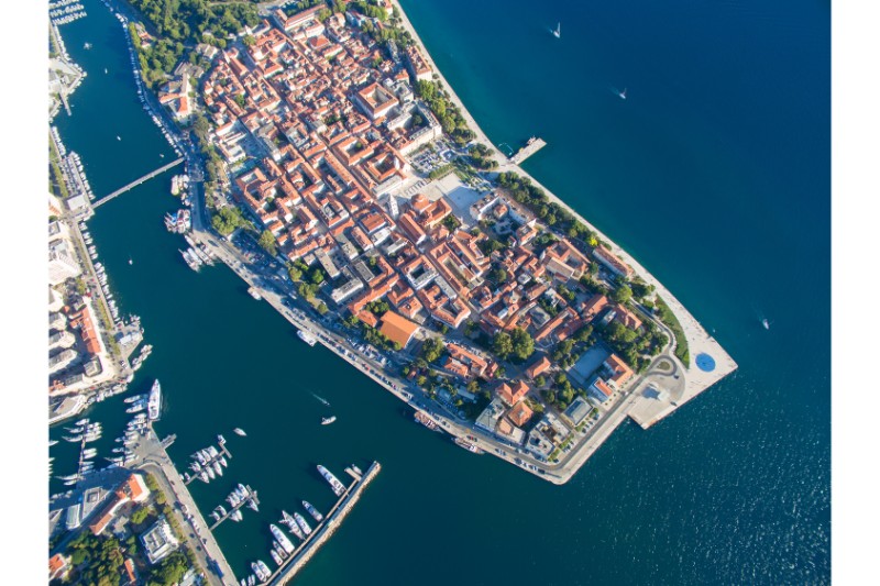
<svg viewBox="0 0 880 586"><path fill-rule="evenodd" d="M57 123L101 196L173 151L136 100L121 27L84 3L89 16L63 35L89 76ZM383 473L298 583L828 583L828 3L404 4L496 144L547 140L528 170L652 270L740 369L649 432L625 424L554 487L414 424L226 267L190 272L162 224L166 174L90 230L155 346L132 387L161 378L172 457L184 469L217 433L229 440L226 476L193 485L202 511L239 482L261 494L258 515L217 532L233 568L271 562L282 508L332 502L315 464L342 474L375 458ZM103 455L122 407L89 414L105 422ZM66 474L73 450L53 451Z"/></svg>

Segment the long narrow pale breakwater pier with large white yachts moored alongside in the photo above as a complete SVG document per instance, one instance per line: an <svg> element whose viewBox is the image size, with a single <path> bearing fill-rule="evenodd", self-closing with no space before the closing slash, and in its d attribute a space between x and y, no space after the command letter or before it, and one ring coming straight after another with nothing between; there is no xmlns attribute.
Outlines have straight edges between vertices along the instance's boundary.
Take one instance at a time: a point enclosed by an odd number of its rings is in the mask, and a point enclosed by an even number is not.
<svg viewBox="0 0 880 586"><path fill-rule="evenodd" d="M290 554L289 557L284 560L284 563L272 573L272 576L270 576L265 584L280 586L292 581L294 576L296 576L296 573L311 560L311 556L315 555L320 546L323 545L342 524L342 520L345 519L345 516L351 512L354 505L361 498L364 488L376 477L381 469L382 466L378 462L373 462L363 476L351 468L345 468L345 472L354 478L354 482L345 489L345 493L343 493L333 508L330 509L324 520L315 528L311 534L306 535L306 540L294 550L294 553Z"/></svg>

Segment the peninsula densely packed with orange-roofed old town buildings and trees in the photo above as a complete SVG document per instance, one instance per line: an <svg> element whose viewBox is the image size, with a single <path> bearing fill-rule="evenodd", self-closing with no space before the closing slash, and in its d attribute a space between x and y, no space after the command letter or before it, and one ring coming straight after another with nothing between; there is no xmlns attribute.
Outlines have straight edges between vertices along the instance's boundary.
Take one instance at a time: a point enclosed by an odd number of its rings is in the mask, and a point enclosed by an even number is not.
<svg viewBox="0 0 880 586"><path fill-rule="evenodd" d="M492 144L396 2L235 5L240 32L177 48L129 26L185 134L194 269L221 259L417 421L556 484L627 416L648 428L736 369L518 166L540 139Z"/></svg>

